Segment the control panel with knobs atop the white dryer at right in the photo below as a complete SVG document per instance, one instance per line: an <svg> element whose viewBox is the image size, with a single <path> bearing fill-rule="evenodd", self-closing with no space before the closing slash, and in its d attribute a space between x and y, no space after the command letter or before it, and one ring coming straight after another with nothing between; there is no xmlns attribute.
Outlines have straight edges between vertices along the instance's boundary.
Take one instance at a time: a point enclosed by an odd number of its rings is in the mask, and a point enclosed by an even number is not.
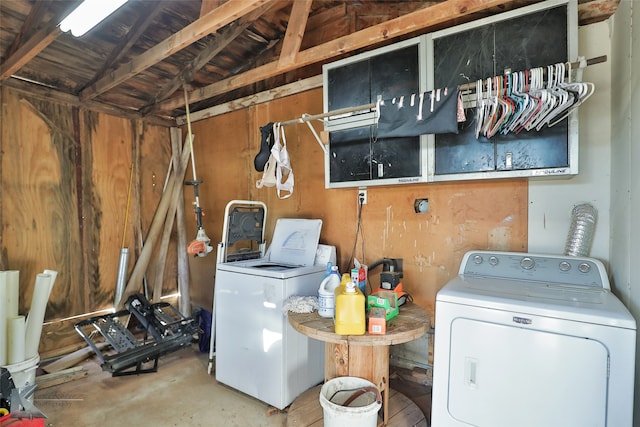
<svg viewBox="0 0 640 427"><path fill-rule="evenodd" d="M465 254L459 274L610 289L602 262L567 255L471 251Z"/></svg>

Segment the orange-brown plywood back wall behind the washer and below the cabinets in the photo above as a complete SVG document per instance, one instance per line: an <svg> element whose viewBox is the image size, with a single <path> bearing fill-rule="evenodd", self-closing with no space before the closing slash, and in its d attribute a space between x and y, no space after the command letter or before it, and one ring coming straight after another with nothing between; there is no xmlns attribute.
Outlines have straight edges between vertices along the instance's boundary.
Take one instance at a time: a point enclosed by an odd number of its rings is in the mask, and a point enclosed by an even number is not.
<svg viewBox="0 0 640 427"><path fill-rule="evenodd" d="M196 169L204 180L205 228L212 241L220 240L228 201L259 200L268 207L268 242L277 218L320 218L321 242L337 247L340 270L349 271L357 232L357 189L324 188L323 152L305 124L285 128L295 177L293 196L280 200L275 188L255 185L262 177L253 166L259 127L321 112L322 92L317 89L193 124ZM314 126L322 130L321 123ZM429 199L428 213L414 212L416 198ZM457 274L467 250L526 250L527 203L525 180L369 187L355 256L365 264L402 258L405 290L433 313L436 292ZM200 270L192 268L192 302L211 307L213 260L194 259L194 264ZM370 276L374 288L379 286L380 270Z"/></svg>

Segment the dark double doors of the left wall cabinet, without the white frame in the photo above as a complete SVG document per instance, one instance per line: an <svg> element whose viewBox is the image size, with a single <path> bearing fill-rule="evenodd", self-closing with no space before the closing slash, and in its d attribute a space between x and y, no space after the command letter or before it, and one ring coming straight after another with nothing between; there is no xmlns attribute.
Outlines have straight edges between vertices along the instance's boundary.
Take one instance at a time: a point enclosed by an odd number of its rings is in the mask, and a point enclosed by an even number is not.
<svg viewBox="0 0 640 427"><path fill-rule="evenodd" d="M418 44L330 69L328 83L330 111L418 93ZM422 172L419 137L378 138L375 126L330 132L329 150L331 183L417 177Z"/></svg>

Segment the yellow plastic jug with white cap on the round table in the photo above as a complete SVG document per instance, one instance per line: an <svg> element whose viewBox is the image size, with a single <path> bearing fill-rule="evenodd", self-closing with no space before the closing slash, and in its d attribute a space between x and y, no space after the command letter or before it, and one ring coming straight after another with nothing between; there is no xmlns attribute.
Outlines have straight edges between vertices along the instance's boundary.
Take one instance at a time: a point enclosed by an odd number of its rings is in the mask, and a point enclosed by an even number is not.
<svg viewBox="0 0 640 427"><path fill-rule="evenodd" d="M364 295L351 280L336 294L335 328L338 335L364 335L367 329Z"/></svg>

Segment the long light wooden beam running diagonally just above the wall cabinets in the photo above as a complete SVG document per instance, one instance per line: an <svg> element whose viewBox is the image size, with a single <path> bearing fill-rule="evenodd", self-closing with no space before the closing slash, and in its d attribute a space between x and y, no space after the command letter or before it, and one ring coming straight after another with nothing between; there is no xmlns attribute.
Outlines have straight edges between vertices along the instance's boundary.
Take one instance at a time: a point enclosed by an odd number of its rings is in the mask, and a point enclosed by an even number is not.
<svg viewBox="0 0 640 427"><path fill-rule="evenodd" d="M451 20L452 17L461 17L516 1L517 0L447 0L303 50L298 53L295 63L279 67L278 61L271 62L243 74L232 76L196 89L189 94L189 101L190 103L195 103L212 98L296 68L326 61L340 54L352 52L356 49L364 48L394 37L414 33L423 28L441 24ZM157 109L158 111L170 111L183 106L184 99L176 97L158 104Z"/></svg>

